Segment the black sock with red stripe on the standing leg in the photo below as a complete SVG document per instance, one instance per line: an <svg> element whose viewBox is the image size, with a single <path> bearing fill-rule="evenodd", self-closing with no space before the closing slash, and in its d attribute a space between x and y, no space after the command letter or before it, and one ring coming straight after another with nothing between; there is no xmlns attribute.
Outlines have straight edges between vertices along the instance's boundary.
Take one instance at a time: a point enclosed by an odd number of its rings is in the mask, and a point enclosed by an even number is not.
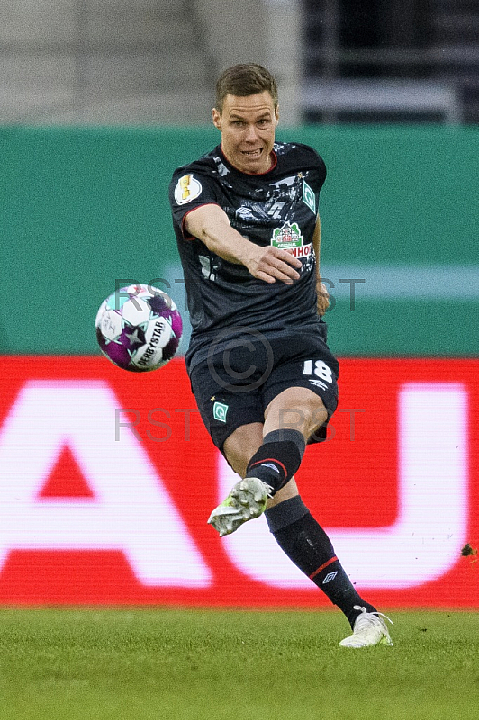
<svg viewBox="0 0 479 720"><path fill-rule="evenodd" d="M334 553L330 538L316 522L299 495L275 505L265 513L267 524L277 544L297 567L307 575L348 617L352 626L360 610L375 612L363 600Z"/></svg>

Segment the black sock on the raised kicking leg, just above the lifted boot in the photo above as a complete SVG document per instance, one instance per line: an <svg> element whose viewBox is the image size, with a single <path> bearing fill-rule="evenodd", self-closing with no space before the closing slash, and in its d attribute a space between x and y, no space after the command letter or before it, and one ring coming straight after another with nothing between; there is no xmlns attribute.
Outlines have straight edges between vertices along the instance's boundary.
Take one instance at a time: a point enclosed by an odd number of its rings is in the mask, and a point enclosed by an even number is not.
<svg viewBox="0 0 479 720"><path fill-rule="evenodd" d="M246 477L266 482L273 488L274 495L301 465L305 446L303 434L298 430L272 430L249 461Z"/></svg>

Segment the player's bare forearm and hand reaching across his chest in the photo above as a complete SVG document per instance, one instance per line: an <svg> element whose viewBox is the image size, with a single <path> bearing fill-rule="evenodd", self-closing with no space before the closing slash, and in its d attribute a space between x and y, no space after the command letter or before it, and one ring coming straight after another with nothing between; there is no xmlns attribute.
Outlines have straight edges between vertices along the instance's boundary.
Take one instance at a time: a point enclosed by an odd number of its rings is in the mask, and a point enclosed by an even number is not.
<svg viewBox="0 0 479 720"><path fill-rule="evenodd" d="M260 247L244 238L230 225L230 220L219 205L201 205L188 212L184 220L186 232L202 240L215 255L236 265L244 265L253 277L266 283L280 280L292 284L299 278L295 268L301 260L287 250L269 245Z"/></svg>

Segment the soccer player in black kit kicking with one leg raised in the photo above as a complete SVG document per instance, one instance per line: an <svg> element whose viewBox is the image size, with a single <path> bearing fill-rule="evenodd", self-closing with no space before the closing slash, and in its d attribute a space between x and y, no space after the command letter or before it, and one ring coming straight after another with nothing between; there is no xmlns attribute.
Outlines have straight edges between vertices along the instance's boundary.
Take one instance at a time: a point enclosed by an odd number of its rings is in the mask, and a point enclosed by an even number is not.
<svg viewBox="0 0 479 720"><path fill-rule="evenodd" d="M170 184L193 327L186 367L212 441L241 478L208 522L224 536L264 512L285 554L348 618L339 645L391 645L294 480L336 410L339 367L321 319L326 169L313 148L276 143L278 118L264 67L225 70L212 110L221 144Z"/></svg>

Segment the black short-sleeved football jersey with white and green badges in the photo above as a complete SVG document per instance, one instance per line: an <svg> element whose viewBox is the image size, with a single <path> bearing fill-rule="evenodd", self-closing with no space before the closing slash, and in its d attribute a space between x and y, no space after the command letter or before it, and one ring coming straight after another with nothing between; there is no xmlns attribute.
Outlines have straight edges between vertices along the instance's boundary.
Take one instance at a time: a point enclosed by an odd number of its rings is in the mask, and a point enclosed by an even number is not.
<svg viewBox="0 0 479 720"><path fill-rule="evenodd" d="M312 236L326 167L313 148L299 143L276 143L274 153L274 166L262 175L239 172L220 146L173 175L169 199L193 328L189 367L204 359L212 342L215 347L218 338L230 342L241 329L267 337L315 329L325 337L316 311ZM187 213L211 203L220 205L231 226L251 242L292 248L302 261L300 278L289 285L268 284L188 237Z"/></svg>

